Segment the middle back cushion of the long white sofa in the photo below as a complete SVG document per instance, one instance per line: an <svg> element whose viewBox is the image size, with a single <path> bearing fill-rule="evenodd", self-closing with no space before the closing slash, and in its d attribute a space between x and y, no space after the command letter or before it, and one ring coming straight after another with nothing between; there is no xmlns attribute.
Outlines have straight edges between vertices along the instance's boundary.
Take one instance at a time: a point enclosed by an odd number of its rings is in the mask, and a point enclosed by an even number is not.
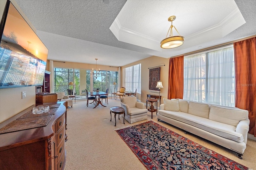
<svg viewBox="0 0 256 170"><path fill-rule="evenodd" d="M188 113L204 118L209 117L209 105L208 104L202 104L202 103L196 103L196 102L189 102L188 105Z"/></svg>

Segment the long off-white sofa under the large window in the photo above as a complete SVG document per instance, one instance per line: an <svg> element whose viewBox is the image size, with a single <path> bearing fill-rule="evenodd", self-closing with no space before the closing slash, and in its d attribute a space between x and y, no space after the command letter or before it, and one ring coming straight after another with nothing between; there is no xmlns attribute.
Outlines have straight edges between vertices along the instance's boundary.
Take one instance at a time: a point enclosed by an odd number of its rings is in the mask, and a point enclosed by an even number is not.
<svg viewBox="0 0 256 170"><path fill-rule="evenodd" d="M234 150L242 159L249 131L248 114L237 107L164 98L157 119Z"/></svg>

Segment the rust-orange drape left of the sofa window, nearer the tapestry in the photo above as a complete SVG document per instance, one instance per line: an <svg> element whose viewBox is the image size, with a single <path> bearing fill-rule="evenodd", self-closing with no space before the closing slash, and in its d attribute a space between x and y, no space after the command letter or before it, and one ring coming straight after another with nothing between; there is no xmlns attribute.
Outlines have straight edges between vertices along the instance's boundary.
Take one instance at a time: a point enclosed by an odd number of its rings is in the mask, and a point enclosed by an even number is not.
<svg viewBox="0 0 256 170"><path fill-rule="evenodd" d="M168 99L183 98L184 55L170 58Z"/></svg>

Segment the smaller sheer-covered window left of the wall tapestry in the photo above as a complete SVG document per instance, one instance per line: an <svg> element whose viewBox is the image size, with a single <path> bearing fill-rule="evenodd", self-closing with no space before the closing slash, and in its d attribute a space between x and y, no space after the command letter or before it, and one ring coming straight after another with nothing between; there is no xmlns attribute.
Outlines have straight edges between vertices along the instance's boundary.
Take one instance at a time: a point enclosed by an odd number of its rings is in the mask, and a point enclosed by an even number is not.
<svg viewBox="0 0 256 170"><path fill-rule="evenodd" d="M124 87L126 91L141 93L141 64L124 69Z"/></svg>

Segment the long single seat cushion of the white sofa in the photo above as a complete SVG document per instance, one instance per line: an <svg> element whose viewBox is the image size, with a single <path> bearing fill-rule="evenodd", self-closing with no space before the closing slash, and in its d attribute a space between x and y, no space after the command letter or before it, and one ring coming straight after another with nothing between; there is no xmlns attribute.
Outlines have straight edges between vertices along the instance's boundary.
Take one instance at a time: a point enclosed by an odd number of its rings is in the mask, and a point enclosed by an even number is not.
<svg viewBox="0 0 256 170"><path fill-rule="evenodd" d="M220 123L204 117L199 117L196 115L178 111L158 110L158 114L198 127L205 131L208 131L215 135L219 135L221 137L225 137L227 139L231 139L233 141L244 141L243 135L236 132L236 127L228 125L226 123Z"/></svg>

